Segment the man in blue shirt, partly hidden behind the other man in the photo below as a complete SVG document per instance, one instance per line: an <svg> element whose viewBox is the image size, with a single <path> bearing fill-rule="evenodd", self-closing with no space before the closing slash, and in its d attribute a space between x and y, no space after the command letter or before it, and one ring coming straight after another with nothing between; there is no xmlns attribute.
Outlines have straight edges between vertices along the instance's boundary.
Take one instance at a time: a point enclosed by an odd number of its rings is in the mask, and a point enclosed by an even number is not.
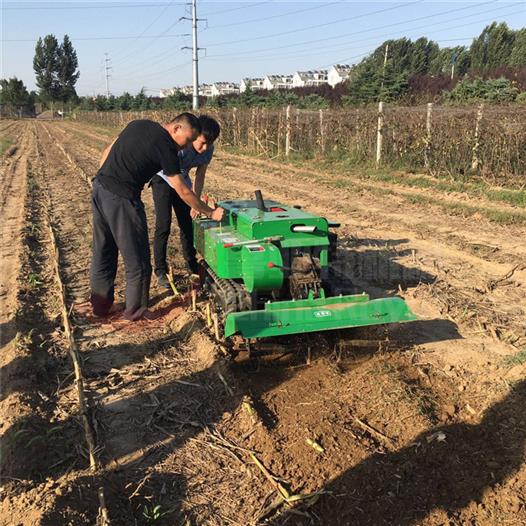
<svg viewBox="0 0 526 526"><path fill-rule="evenodd" d="M193 189L197 197L201 197L206 170L214 154L213 143L221 131L219 123L207 115L199 117L199 124L201 126L200 135L191 145L179 151L181 175L189 188L192 188L190 170L196 168ZM193 244L192 208L170 187L164 170L152 179L152 192L155 202L155 236L153 242L155 276L161 287L169 289L170 284L166 278L168 272L166 251L171 230L172 209L179 224L181 246L186 264L190 272L193 274L198 272Z"/></svg>

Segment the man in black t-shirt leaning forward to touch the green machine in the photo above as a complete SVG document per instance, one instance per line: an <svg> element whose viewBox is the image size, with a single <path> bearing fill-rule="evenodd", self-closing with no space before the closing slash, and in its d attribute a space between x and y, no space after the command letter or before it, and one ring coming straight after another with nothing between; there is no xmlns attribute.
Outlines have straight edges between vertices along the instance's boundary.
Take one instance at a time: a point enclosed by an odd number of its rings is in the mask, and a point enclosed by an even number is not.
<svg viewBox="0 0 526 526"><path fill-rule="evenodd" d="M114 301L117 256L126 269L124 316L139 319L148 307L150 245L141 191L160 170L191 208L220 221L223 209L210 208L185 184L177 152L200 133L197 117L182 113L165 125L149 120L130 122L102 155L93 181L93 247L91 304L96 316L110 312Z"/></svg>

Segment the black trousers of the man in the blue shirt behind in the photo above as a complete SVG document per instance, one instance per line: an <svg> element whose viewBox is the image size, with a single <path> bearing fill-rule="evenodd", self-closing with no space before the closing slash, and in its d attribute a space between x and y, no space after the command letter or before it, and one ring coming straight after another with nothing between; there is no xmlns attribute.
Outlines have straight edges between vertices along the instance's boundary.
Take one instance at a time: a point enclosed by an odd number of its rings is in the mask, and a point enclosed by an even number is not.
<svg viewBox="0 0 526 526"><path fill-rule="evenodd" d="M186 264L191 272L197 274L198 266L194 248L194 232L191 208L179 197L179 194L161 177L152 179L153 201L155 203L155 236L153 240L153 257L155 273L166 274L166 250L172 225L172 209L179 223L181 246Z"/></svg>

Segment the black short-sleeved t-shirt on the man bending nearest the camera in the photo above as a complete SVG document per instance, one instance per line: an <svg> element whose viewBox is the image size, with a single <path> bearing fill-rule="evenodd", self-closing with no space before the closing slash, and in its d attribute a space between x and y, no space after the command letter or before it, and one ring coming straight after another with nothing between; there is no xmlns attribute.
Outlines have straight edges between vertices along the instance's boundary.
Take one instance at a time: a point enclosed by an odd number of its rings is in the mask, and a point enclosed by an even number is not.
<svg viewBox="0 0 526 526"><path fill-rule="evenodd" d="M160 170L181 173L178 147L160 124L132 121L122 130L97 172L100 184L126 199L139 199L144 185Z"/></svg>

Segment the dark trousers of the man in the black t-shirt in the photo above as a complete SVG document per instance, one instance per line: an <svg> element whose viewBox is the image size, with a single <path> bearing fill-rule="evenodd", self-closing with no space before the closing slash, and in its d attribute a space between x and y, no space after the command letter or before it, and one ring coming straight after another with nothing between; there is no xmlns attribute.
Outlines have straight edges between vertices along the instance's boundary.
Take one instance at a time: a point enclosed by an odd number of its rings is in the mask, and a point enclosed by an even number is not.
<svg viewBox="0 0 526 526"><path fill-rule="evenodd" d="M137 319L148 307L150 245L144 205L106 190L96 179L92 192L93 246L90 272L91 304L98 316L108 314L114 301L117 257L126 269L128 319Z"/></svg>

